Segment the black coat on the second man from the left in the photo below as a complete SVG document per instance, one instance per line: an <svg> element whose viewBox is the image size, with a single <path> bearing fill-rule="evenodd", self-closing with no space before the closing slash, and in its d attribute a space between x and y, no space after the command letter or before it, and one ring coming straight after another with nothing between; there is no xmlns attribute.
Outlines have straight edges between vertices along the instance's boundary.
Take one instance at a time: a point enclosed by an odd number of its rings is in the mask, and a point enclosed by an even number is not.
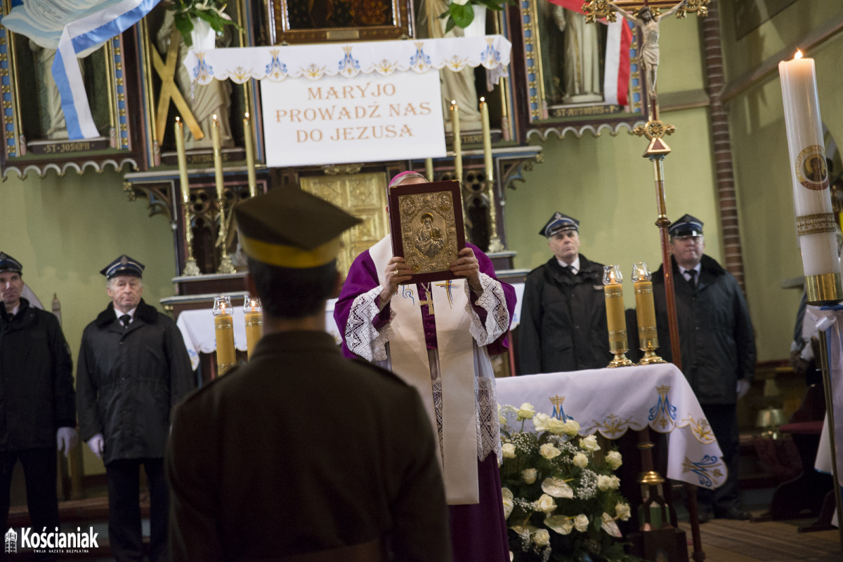
<svg viewBox="0 0 843 562"><path fill-rule="evenodd" d="M193 389L185 341L141 300L124 328L109 304L85 327L76 370L81 437L105 437L103 461L164 456L170 410Z"/></svg>

